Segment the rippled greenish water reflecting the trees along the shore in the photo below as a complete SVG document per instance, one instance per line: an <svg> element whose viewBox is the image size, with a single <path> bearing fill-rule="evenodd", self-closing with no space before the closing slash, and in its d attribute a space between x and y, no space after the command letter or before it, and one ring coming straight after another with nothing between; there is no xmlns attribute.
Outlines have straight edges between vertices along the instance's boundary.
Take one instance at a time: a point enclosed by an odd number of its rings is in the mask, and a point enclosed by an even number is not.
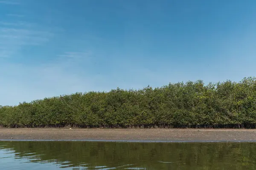
<svg viewBox="0 0 256 170"><path fill-rule="evenodd" d="M256 143L0 142L0 170L255 170Z"/></svg>

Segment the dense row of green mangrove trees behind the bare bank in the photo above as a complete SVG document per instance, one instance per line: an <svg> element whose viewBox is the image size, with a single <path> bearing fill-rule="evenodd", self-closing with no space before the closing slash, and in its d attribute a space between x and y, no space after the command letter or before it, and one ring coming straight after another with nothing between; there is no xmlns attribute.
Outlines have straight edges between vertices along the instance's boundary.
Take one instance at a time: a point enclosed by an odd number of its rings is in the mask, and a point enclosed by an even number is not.
<svg viewBox="0 0 256 170"><path fill-rule="evenodd" d="M3 127L255 127L256 78L88 92L0 106Z"/></svg>

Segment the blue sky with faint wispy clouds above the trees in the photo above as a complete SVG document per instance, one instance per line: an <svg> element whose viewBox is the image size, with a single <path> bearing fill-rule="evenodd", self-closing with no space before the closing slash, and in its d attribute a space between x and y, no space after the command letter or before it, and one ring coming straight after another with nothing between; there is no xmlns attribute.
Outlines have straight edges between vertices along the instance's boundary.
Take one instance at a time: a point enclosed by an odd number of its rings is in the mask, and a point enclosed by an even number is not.
<svg viewBox="0 0 256 170"><path fill-rule="evenodd" d="M255 76L255 0L0 0L0 105Z"/></svg>

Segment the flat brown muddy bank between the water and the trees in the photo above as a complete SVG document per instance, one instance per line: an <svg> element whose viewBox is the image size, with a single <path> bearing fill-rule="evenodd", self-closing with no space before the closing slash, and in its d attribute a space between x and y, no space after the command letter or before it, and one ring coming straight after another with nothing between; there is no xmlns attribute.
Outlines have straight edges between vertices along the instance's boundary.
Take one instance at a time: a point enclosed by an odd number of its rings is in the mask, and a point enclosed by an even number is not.
<svg viewBox="0 0 256 170"><path fill-rule="evenodd" d="M256 130L0 128L0 140L256 142Z"/></svg>

